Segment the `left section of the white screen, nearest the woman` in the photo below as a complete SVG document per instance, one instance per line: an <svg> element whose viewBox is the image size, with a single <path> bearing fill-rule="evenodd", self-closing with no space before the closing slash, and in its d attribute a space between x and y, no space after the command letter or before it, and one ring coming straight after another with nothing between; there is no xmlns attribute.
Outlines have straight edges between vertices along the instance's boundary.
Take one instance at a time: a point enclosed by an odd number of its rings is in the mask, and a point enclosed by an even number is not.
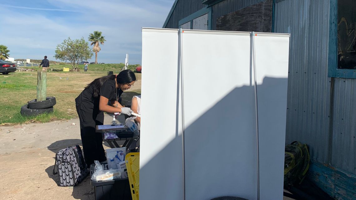
<svg viewBox="0 0 356 200"><path fill-rule="evenodd" d="M150 30L142 32L140 199L181 200L178 32Z"/></svg>

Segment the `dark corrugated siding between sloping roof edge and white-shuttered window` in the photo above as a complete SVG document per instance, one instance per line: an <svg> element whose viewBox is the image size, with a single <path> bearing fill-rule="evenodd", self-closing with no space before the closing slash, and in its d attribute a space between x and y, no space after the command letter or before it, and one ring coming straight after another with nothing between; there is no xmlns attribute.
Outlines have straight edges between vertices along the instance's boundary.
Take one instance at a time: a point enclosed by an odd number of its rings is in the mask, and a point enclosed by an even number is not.
<svg viewBox="0 0 356 200"><path fill-rule="evenodd" d="M164 28L178 28L179 20L207 7L201 0L178 0L171 17Z"/></svg>

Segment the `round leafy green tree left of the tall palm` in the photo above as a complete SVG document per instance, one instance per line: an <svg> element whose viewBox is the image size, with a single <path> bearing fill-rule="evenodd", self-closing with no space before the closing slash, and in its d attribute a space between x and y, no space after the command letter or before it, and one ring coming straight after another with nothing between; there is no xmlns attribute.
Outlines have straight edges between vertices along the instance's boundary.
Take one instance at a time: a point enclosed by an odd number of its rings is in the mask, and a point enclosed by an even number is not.
<svg viewBox="0 0 356 200"><path fill-rule="evenodd" d="M93 55L89 43L83 37L75 40L68 37L57 45L54 58L70 63L73 71L77 71L79 61L88 60Z"/></svg>

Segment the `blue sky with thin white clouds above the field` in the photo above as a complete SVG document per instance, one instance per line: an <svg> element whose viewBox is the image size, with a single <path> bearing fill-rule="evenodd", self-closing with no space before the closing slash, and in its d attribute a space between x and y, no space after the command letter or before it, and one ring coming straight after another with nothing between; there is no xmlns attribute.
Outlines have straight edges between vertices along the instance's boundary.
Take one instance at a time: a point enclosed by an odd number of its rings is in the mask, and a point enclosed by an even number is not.
<svg viewBox="0 0 356 200"><path fill-rule="evenodd" d="M141 64L141 27L161 28L174 0L0 0L0 44L15 59L53 58L64 39L103 32L98 62ZM6 13L6 14L5 14ZM6 28L4 28L6 27ZM93 58L89 62L95 60Z"/></svg>

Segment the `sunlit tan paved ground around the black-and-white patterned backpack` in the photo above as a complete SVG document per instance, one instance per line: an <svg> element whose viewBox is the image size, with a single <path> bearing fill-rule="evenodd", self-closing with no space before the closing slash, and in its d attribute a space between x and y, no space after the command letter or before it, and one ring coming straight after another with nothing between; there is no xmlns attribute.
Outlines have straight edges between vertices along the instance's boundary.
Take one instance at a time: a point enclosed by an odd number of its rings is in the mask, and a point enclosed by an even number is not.
<svg viewBox="0 0 356 200"><path fill-rule="evenodd" d="M0 199L95 199L89 176L78 186L59 187L52 174L58 150L76 144L82 145L79 119L1 126Z"/></svg>

